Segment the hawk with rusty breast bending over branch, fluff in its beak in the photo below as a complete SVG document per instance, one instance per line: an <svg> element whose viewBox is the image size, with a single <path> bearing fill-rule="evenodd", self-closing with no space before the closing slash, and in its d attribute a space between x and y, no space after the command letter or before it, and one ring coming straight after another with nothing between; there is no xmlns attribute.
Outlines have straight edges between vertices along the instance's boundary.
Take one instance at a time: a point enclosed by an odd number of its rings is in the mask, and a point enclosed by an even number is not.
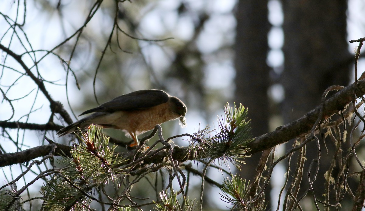
<svg viewBox="0 0 365 211"><path fill-rule="evenodd" d="M99 107L82 112L90 114L59 130L59 137L89 127L90 124L104 128L123 130L126 136L138 145L137 135L152 130L156 124L178 119L182 127L186 126L187 107L177 97L158 89L144 89L121 95L101 104Z"/></svg>

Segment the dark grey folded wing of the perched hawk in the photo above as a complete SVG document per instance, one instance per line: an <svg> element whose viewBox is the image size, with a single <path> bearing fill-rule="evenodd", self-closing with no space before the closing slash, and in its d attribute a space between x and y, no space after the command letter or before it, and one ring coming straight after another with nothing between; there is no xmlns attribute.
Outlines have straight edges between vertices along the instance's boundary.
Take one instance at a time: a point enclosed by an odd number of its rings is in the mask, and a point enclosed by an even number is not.
<svg viewBox="0 0 365 211"><path fill-rule="evenodd" d="M79 116L98 111L114 112L151 108L166 103L168 100L168 93L162 90L144 89L115 97L99 107L82 112Z"/></svg>

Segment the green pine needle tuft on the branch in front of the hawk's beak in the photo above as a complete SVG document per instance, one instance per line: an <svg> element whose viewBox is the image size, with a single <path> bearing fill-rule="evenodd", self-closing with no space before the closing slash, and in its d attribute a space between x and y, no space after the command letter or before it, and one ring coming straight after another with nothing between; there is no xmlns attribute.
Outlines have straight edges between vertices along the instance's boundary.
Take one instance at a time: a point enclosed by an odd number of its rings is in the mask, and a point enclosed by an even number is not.
<svg viewBox="0 0 365 211"><path fill-rule="evenodd" d="M250 120L247 119L247 108L242 104L236 108L227 103L224 106L224 116L218 119L219 133L211 135L209 127L196 133L197 144L191 145L191 153L201 157L219 158L229 161L236 168L244 164L248 151L247 144L253 141L250 133ZM198 156L199 157L199 156Z"/></svg>

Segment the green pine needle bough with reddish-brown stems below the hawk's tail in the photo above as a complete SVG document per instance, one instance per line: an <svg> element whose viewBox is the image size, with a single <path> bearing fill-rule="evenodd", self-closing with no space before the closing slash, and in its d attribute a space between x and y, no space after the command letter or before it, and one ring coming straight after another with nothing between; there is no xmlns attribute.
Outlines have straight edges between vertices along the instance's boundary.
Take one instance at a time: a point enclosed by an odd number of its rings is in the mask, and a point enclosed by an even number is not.
<svg viewBox="0 0 365 211"><path fill-rule="evenodd" d="M108 146L109 137L102 128L91 125L82 133L80 144L71 150L71 158L63 158L60 164L66 166L42 187L44 206L50 210L87 210L93 197L93 190L113 182L119 187L118 176L123 173L126 160L114 153L116 146Z"/></svg>

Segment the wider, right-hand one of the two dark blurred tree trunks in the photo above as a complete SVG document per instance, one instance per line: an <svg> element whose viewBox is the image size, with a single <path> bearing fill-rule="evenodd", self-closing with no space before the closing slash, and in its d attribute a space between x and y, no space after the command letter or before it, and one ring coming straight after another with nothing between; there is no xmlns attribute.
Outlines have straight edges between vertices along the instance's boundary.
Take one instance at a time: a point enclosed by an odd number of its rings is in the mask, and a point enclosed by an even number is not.
<svg viewBox="0 0 365 211"><path fill-rule="evenodd" d="M283 11L285 62L282 84L285 100L282 115L284 123L289 123L319 105L326 88L349 83L352 56L347 50L346 41L347 1L283 1ZM328 154L333 154L335 149L331 142L324 146L321 141L320 146L322 153L327 153L328 149ZM309 143L307 149L311 150L307 150L305 174L317 156L314 142ZM319 188L323 191L325 184L323 175L328 170L330 160L323 159L320 160L314 191ZM307 181L307 176L303 177L305 188L308 187Z"/></svg>

